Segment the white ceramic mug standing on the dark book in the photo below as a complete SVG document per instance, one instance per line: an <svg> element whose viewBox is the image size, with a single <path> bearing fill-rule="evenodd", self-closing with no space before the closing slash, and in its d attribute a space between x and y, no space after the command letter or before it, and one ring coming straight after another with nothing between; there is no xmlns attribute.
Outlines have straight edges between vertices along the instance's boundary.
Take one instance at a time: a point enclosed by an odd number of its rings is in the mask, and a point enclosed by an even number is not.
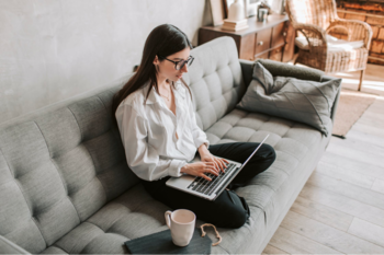
<svg viewBox="0 0 384 255"><path fill-rule="evenodd" d="M187 246L193 235L196 216L185 209L166 211L166 221L171 230L172 242L178 246Z"/></svg>

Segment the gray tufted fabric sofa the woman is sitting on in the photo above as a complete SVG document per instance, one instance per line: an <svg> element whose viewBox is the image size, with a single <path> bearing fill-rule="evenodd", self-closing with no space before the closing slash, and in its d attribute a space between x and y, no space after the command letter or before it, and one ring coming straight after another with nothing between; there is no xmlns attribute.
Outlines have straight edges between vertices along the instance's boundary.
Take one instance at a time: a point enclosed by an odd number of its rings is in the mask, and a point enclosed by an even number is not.
<svg viewBox="0 0 384 255"><path fill-rule="evenodd" d="M267 142L276 151L268 171L236 189L250 206L249 221L218 229L223 242L212 247L212 254L260 254L330 136L236 108L252 62L238 59L230 37L191 55L195 60L184 79L211 143L260 141L270 134ZM170 208L154 200L128 169L112 125L112 96L131 76L0 126L1 254L128 254L125 241L167 229L163 213Z"/></svg>

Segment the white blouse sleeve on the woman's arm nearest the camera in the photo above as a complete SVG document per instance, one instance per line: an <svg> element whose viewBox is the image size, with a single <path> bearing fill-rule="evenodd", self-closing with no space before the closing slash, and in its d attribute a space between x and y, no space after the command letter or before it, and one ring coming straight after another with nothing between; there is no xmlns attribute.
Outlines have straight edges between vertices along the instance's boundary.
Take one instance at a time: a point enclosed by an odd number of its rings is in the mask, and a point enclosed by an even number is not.
<svg viewBox="0 0 384 255"><path fill-rule="evenodd" d="M131 105L116 111L120 134L125 148L125 157L131 170L146 181L155 181L168 175L180 177L183 160L160 159L157 150L147 142L147 120Z"/></svg>

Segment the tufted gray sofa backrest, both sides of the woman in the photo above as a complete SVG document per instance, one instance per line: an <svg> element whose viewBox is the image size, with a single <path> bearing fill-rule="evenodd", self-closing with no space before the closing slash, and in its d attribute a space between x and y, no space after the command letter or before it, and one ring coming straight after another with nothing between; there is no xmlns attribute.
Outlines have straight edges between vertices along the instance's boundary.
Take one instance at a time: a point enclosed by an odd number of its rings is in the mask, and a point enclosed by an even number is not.
<svg viewBox="0 0 384 255"><path fill-rule="evenodd" d="M240 63L230 37L191 55L184 79L206 130L242 96ZM0 235L37 254L139 182L111 114L129 77L0 125Z"/></svg>

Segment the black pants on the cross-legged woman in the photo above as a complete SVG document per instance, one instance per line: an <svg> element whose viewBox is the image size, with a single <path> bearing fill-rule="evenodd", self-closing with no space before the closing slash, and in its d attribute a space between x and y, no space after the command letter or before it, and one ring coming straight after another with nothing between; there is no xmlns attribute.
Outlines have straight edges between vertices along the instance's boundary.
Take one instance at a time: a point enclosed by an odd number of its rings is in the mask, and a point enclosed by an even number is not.
<svg viewBox="0 0 384 255"><path fill-rule="evenodd" d="M210 152L214 155L244 163L259 146L257 142L233 142L210 146ZM262 144L252 159L228 185L229 189L244 187L247 183L266 171L274 161L274 149L269 144ZM145 189L157 200L166 204L173 210L188 209L196 215L196 218L219 228L240 228L249 218L249 208L246 200L233 190L224 190L214 201L190 195L184 192L168 187L166 182L170 176L158 181L144 181Z"/></svg>

